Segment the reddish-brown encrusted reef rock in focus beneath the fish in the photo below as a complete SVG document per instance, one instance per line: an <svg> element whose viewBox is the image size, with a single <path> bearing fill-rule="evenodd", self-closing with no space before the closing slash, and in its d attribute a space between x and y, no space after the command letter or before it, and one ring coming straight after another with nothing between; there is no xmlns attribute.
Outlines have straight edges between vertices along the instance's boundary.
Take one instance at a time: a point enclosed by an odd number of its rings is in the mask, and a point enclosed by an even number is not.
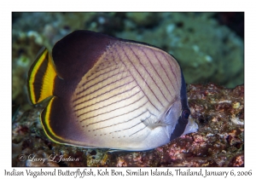
<svg viewBox="0 0 256 179"><path fill-rule="evenodd" d="M244 86L189 84L188 98L199 130L143 152L57 144L39 122L44 104L20 109L12 130L13 166L243 166Z"/></svg>

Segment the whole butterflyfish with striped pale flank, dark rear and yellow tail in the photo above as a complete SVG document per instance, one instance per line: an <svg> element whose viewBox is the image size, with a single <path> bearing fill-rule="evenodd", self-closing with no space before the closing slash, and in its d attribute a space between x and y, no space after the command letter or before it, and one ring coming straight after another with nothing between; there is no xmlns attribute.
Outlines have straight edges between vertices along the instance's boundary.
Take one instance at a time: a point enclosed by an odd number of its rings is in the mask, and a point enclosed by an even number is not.
<svg viewBox="0 0 256 179"><path fill-rule="evenodd" d="M51 96L41 122L58 143L142 151L198 128L177 61L146 43L73 32L38 54L27 85L32 104Z"/></svg>

